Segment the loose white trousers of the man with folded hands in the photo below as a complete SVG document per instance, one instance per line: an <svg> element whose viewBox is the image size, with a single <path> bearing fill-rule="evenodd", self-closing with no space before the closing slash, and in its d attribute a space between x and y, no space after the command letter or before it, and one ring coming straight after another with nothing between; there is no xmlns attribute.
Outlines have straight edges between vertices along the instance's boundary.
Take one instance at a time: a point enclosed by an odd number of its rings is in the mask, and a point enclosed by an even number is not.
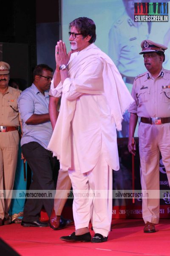
<svg viewBox="0 0 170 256"><path fill-rule="evenodd" d="M112 169L103 153L91 171L81 173L80 170L68 170L68 174L75 193L73 216L76 230L88 227L92 218L94 232L108 236L112 219ZM91 197L91 190L96 197ZM87 193L90 194L89 198Z"/></svg>

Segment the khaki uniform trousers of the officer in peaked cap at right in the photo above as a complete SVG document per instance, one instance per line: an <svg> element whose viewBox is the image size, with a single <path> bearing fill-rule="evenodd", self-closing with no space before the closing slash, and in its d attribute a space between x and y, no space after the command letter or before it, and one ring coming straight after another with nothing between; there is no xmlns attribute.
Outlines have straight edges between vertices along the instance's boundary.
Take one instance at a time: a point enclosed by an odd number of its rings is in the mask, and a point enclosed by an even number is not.
<svg viewBox="0 0 170 256"><path fill-rule="evenodd" d="M142 199L144 222L159 223L159 151L161 152L167 178L170 183L170 123L150 125L140 122L139 154L141 164L141 186L156 198ZM151 194L149 191L154 190Z"/></svg>

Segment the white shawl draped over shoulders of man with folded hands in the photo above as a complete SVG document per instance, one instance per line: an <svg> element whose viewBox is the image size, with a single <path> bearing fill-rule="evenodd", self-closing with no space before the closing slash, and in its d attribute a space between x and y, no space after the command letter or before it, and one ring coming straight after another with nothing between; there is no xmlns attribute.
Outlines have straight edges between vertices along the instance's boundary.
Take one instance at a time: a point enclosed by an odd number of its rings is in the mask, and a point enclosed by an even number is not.
<svg viewBox="0 0 170 256"><path fill-rule="evenodd" d="M74 82L78 67L81 65L86 67L91 59L95 57L100 58L104 64L102 73L104 94L111 109L112 122L116 123L116 128L120 131L122 129L122 115L134 100L111 58L94 44L91 44L79 52L68 64L69 78ZM87 84L86 86L83 84L76 86L76 91L80 93L102 94L103 88L100 88L100 84L96 88L89 83L89 86ZM73 119L75 109L76 100L69 101L65 99L63 93L57 123L48 144L48 149L57 156L63 169L71 167L71 120Z"/></svg>

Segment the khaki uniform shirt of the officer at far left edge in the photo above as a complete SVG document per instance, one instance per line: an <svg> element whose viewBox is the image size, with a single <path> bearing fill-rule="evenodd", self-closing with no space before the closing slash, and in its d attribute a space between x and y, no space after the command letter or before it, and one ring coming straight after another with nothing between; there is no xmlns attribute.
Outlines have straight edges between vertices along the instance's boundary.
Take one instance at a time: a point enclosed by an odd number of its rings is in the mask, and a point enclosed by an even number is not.
<svg viewBox="0 0 170 256"><path fill-rule="evenodd" d="M20 90L10 86L4 95L0 93L0 125L19 126L17 99L20 93Z"/></svg>

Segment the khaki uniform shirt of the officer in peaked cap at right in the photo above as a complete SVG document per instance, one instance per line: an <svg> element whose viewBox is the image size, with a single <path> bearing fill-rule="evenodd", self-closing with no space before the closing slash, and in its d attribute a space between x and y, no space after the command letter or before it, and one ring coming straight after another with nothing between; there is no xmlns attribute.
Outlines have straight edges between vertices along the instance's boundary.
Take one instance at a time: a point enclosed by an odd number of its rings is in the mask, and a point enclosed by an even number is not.
<svg viewBox="0 0 170 256"><path fill-rule="evenodd" d="M170 70L162 68L156 79L148 71L137 76L131 95L135 102L128 112L140 117L169 117Z"/></svg>

